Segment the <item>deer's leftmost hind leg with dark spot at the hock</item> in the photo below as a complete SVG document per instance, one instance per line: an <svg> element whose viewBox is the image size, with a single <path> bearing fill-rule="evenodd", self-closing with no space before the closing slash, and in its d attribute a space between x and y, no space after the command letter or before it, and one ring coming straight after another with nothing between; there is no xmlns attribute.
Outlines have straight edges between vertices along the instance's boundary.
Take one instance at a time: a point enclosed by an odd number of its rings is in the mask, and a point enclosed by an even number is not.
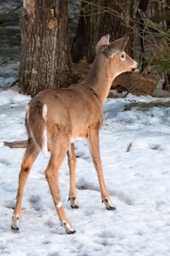
<svg viewBox="0 0 170 256"><path fill-rule="evenodd" d="M16 196L16 205L15 205L14 213L12 216L12 225L11 225L12 229L19 230L23 189L26 184L28 175L30 173L31 166L34 163L35 159L37 158L38 154L39 154L39 148L34 143L33 139L29 138L28 143L27 143L26 153L23 158L23 161L21 164L21 170L19 173L19 183L18 183L18 191L17 191L17 196Z"/></svg>

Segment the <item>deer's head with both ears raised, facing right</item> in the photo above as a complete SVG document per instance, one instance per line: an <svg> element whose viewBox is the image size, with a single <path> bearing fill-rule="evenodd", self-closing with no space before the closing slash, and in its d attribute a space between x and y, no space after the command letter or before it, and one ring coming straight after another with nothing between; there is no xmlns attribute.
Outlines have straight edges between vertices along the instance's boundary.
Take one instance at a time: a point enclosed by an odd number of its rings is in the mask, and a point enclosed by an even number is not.
<svg viewBox="0 0 170 256"><path fill-rule="evenodd" d="M113 70L114 78L120 73L138 69L138 63L124 51L128 40L129 36L125 36L109 44L108 34L103 36L96 45L97 55L105 54L109 68Z"/></svg>

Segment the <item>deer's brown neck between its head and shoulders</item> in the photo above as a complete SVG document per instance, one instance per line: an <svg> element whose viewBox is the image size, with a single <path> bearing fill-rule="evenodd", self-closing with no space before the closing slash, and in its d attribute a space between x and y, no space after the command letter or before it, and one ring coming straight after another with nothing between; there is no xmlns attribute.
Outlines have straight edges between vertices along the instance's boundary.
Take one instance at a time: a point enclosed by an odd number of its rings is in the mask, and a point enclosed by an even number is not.
<svg viewBox="0 0 170 256"><path fill-rule="evenodd" d="M96 94L99 96L102 104L104 104L111 84L116 76L116 70L110 69L109 60L106 60L105 56L100 56L96 58L92 64L91 70L84 80L84 83L93 88Z"/></svg>

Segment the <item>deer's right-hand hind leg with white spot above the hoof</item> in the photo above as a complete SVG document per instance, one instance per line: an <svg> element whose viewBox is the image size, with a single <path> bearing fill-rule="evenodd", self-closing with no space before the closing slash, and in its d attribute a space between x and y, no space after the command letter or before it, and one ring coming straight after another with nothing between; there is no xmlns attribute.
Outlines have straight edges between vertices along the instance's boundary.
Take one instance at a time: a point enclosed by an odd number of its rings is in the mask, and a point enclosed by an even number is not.
<svg viewBox="0 0 170 256"><path fill-rule="evenodd" d="M50 187L50 191L53 197L53 201L57 210L57 214L61 223L61 226L64 227L65 231L68 234L74 234L76 231L72 227L71 223L68 221L64 208L61 202L61 193L58 185L58 173L61 164L64 161L66 153L69 147L69 138L62 138L57 136L57 139L51 142L50 151L51 158L48 163L48 166L45 170L45 176Z"/></svg>

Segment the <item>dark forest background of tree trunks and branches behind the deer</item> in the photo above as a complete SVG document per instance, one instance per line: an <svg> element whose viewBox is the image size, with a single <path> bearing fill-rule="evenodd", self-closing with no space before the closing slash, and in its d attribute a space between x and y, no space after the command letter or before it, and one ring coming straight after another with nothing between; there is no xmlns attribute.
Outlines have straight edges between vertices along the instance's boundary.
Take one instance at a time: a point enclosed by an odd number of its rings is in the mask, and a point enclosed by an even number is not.
<svg viewBox="0 0 170 256"><path fill-rule="evenodd" d="M169 91L169 0L8 0L0 8L0 76L16 77L23 93L80 81L106 34L129 35L126 52L139 72L163 78Z"/></svg>

